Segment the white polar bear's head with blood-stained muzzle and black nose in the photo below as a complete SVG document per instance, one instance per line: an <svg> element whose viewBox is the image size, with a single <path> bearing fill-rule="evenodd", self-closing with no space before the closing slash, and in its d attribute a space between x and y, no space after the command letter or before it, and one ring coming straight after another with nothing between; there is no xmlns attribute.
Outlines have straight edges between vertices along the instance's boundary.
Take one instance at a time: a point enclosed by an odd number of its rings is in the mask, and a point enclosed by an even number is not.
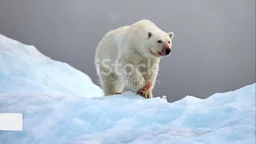
<svg viewBox="0 0 256 144"><path fill-rule="evenodd" d="M141 54L147 58L162 58L170 54L174 33L162 30L148 31L142 42Z"/></svg>

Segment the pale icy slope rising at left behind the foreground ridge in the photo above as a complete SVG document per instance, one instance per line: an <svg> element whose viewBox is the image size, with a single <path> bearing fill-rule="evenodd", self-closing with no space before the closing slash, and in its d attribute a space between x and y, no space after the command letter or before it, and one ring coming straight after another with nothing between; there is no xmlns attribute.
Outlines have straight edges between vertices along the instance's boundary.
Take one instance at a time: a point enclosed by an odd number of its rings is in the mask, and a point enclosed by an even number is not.
<svg viewBox="0 0 256 144"><path fill-rule="evenodd" d="M70 94L102 96L90 77L64 62L54 61L34 46L0 34L0 94Z"/></svg>

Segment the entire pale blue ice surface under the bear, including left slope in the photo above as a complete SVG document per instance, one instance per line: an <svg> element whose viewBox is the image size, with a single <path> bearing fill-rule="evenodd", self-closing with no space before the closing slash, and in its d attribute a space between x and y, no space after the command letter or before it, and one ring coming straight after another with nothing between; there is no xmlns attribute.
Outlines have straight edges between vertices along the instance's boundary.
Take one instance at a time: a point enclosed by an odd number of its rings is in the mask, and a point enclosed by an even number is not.
<svg viewBox="0 0 256 144"><path fill-rule="evenodd" d="M255 85L172 103L102 97L88 75L0 34L0 113L23 114L23 130L0 130L0 143L251 144Z"/></svg>

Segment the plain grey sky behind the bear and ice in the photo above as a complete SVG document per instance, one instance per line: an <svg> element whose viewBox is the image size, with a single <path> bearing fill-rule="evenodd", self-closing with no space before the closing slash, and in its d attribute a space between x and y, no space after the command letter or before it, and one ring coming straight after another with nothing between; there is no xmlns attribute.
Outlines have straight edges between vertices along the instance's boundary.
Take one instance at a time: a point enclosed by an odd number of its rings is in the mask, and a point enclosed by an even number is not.
<svg viewBox="0 0 256 144"><path fill-rule="evenodd" d="M206 98L255 82L255 1L1 0L0 33L97 80L94 52L109 30L150 19L175 34L155 96Z"/></svg>

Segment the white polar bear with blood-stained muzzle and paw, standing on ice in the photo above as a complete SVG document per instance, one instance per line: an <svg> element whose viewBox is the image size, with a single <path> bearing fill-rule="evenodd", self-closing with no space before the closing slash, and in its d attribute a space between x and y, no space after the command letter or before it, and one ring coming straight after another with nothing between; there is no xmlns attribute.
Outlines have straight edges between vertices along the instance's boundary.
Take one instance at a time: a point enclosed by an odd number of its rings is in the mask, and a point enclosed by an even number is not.
<svg viewBox="0 0 256 144"><path fill-rule="evenodd" d="M131 90L152 98L160 59L170 54L173 38L147 19L106 33L94 59L104 95Z"/></svg>

